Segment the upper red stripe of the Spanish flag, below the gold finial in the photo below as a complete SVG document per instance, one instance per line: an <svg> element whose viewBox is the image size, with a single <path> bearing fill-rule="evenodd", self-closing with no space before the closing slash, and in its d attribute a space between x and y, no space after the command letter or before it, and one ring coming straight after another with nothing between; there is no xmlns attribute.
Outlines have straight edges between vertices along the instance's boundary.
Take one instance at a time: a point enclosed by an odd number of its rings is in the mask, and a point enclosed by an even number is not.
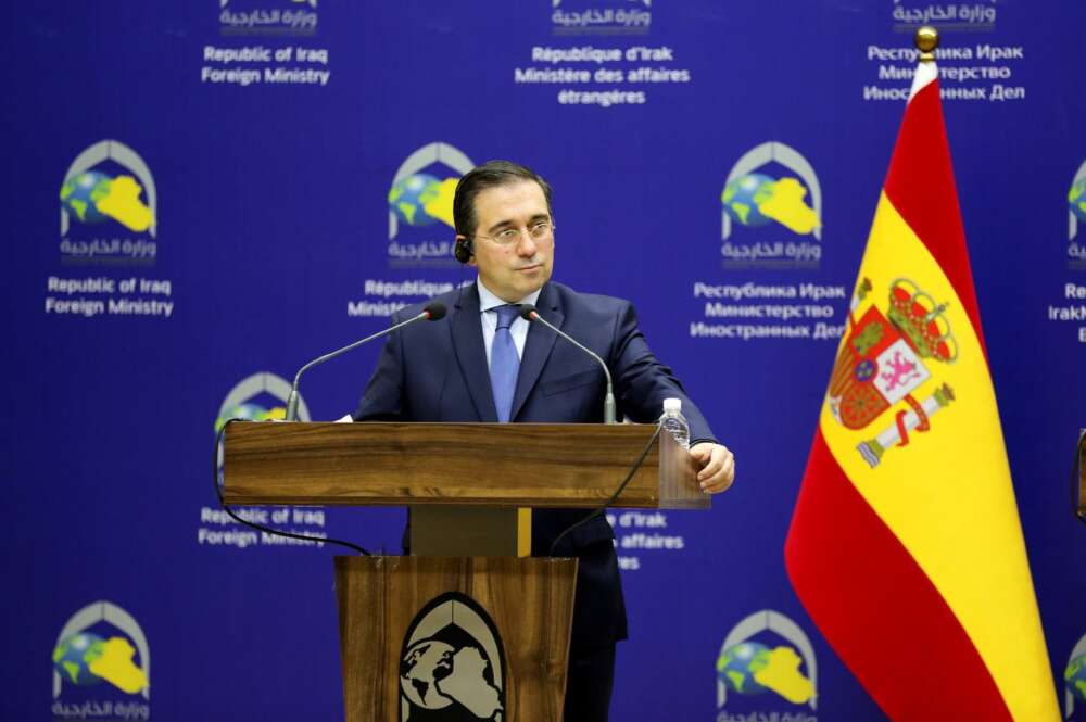
<svg viewBox="0 0 1086 722"><path fill-rule="evenodd" d="M884 190L958 292L987 357L937 80L929 83L909 101Z"/></svg>

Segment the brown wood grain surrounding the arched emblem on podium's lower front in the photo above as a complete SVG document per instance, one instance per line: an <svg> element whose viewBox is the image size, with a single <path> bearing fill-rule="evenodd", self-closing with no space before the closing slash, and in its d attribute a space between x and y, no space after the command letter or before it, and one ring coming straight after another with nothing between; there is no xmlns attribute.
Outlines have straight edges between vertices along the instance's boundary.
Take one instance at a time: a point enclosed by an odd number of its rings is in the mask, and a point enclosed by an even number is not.
<svg viewBox="0 0 1086 722"><path fill-rule="evenodd" d="M346 722L400 719L400 661L415 616L446 592L490 615L505 649L503 720L560 722L576 559L336 557Z"/></svg>

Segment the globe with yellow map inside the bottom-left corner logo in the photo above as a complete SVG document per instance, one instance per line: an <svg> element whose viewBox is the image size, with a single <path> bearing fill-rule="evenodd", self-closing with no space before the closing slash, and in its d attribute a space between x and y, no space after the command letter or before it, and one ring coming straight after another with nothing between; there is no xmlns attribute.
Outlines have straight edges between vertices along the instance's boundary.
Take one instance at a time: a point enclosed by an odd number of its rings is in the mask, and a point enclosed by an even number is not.
<svg viewBox="0 0 1086 722"><path fill-rule="evenodd" d="M77 686L91 687L104 680L131 695L147 686L147 674L132 661L135 654L124 637L105 639L80 632L61 639L53 649L53 669Z"/></svg>

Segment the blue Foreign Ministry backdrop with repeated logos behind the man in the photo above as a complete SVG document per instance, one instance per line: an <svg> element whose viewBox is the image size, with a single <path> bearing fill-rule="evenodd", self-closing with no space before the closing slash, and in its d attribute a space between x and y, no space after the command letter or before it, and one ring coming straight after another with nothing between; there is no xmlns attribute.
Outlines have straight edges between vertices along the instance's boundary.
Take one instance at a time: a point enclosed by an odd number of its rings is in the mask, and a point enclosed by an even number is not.
<svg viewBox="0 0 1086 722"><path fill-rule="evenodd" d="M216 514L216 421L275 415L304 362L471 280L427 201L509 157L555 188L555 279L632 299L738 459L711 512L613 515L631 617L614 719L882 719L782 546L924 21L944 29L1053 692L1086 719L1062 679L1086 651L1068 490L1086 426L1086 9L1068 0L11 8L0 718L342 715L336 552ZM390 202L413 177L421 195ZM744 178L750 198L725 192ZM757 212L785 179L817 230ZM306 377L305 415L352 410L377 353ZM402 511L308 511L268 520L399 548ZM792 631L747 636L799 651L815 704L721 694L725 638L766 611ZM146 691L61 674L75 632L126 639Z"/></svg>

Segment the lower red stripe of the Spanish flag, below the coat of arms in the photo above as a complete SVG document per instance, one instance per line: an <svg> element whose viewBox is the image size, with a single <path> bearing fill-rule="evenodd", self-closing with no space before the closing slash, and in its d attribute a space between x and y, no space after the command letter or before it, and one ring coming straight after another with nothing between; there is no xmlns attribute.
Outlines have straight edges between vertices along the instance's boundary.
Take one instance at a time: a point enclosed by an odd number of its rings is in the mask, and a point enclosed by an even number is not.
<svg viewBox="0 0 1086 722"><path fill-rule="evenodd" d="M892 719L1012 719L965 630L848 481L821 430L784 561L811 619Z"/></svg>

